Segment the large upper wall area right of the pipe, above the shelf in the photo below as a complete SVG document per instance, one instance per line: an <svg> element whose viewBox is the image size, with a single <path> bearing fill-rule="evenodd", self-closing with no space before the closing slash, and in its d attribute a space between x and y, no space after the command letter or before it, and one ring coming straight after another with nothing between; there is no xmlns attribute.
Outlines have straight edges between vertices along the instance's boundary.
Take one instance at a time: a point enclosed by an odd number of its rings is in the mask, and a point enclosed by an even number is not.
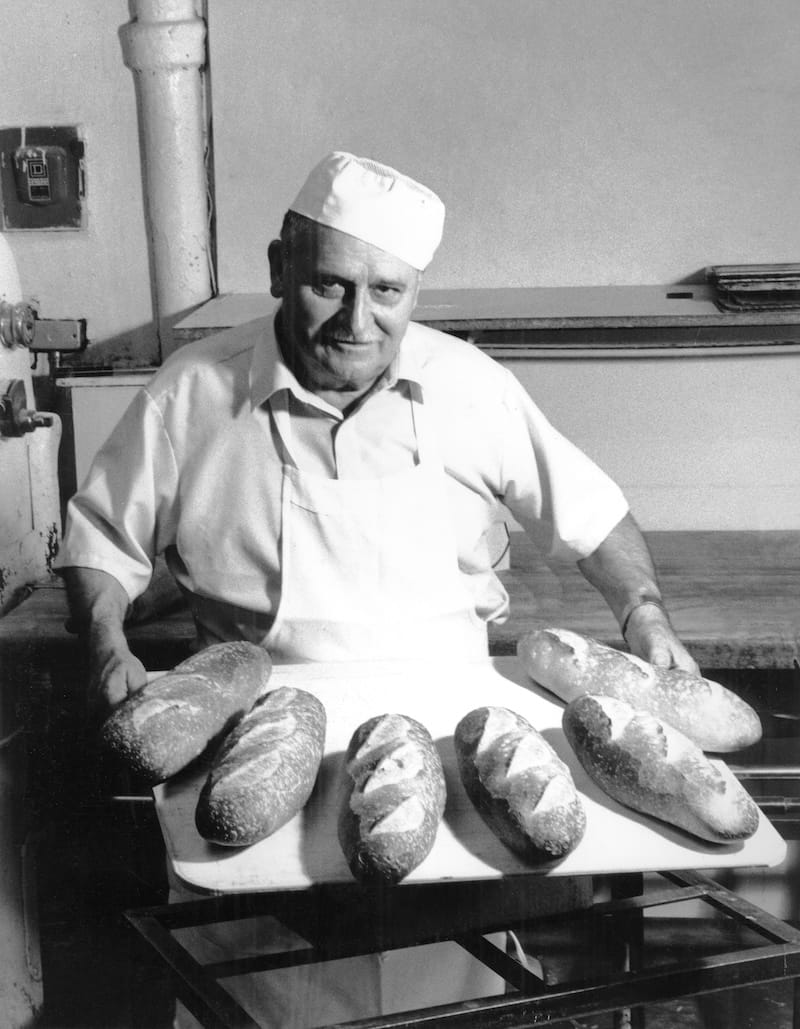
<svg viewBox="0 0 800 1029"><path fill-rule="evenodd" d="M429 287L796 260L800 4L210 0L219 284L332 148L448 207Z"/></svg>

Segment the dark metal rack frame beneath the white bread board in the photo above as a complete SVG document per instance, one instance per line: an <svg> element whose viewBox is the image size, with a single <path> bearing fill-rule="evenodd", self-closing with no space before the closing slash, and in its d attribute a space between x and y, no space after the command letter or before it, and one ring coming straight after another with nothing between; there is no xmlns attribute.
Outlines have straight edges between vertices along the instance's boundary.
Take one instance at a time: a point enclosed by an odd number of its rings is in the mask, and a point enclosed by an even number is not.
<svg viewBox="0 0 800 1029"><path fill-rule="evenodd" d="M635 1008L633 1023L641 1024L640 1005L677 997L730 990L776 980L794 979L794 1029L800 1029L798 981L800 980L800 930L767 914L697 872L661 872L670 885L642 895L639 875L612 880L613 899L593 904L588 911L550 916L592 921L599 928L611 923L622 928L624 970L568 985L549 986L494 945L483 933L497 929L530 928L529 919L511 924L482 924L453 932L452 916L463 916L463 896L451 892L456 907L447 902L447 889L439 884L405 886L382 893L364 891L356 884L320 886L301 892L229 894L179 904L164 904L126 913L138 932L158 951L176 978L183 1003L209 1029L257 1029L254 1022L217 982L246 971L264 971L335 958L352 957L378 950L454 941L501 975L517 992L502 997L469 1000L406 1012L401 1015L359 1019L346 1023L352 1029L411 1029L447 1026L458 1029L523 1029L553 1025L567 1019L605 1012ZM452 886L452 884L450 884ZM480 884L459 884L461 889ZM437 903L431 891L440 890ZM622 894L622 895L620 895ZM396 909L393 899L401 897ZM460 897L460 900L458 899ZM763 937L764 944L702 956L647 969L642 966L642 917L648 908L699 899ZM426 913L438 912L439 928ZM313 941L307 950L288 951L254 958L232 959L201 965L174 938L172 930L253 916L273 915ZM462 919L461 919L462 920ZM419 926L422 925L420 931ZM336 936L326 926L336 926ZM343 927L345 931L343 930ZM628 1016L623 1017L627 1020ZM344 1029L340 1026L339 1029Z"/></svg>

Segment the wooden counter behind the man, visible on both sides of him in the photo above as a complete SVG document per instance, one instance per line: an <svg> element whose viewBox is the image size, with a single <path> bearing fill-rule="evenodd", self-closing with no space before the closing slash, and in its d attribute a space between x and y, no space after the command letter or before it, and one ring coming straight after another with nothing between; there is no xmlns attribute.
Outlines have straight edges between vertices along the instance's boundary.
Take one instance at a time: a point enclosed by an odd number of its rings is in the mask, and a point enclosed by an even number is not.
<svg viewBox="0 0 800 1029"><path fill-rule="evenodd" d="M800 532L651 532L653 552L675 629L702 668L790 669L800 662ZM515 652L522 633L548 625L621 646L602 598L571 565L546 562L521 533L512 535L511 567L500 573L511 616L490 630L496 657ZM65 629L59 581L35 589L0 618L0 674L21 664L77 661ZM148 668L171 667L193 638L183 608L129 628Z"/></svg>

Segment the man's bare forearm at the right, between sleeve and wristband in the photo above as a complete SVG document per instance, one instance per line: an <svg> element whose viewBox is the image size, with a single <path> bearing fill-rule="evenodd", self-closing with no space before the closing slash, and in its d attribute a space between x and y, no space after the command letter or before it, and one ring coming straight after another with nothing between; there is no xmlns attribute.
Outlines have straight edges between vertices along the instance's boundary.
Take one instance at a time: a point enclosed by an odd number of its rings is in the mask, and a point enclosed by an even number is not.
<svg viewBox="0 0 800 1029"><path fill-rule="evenodd" d="M620 625L641 600L661 600L653 558L631 514L625 516L593 554L579 561L578 567L605 598Z"/></svg>

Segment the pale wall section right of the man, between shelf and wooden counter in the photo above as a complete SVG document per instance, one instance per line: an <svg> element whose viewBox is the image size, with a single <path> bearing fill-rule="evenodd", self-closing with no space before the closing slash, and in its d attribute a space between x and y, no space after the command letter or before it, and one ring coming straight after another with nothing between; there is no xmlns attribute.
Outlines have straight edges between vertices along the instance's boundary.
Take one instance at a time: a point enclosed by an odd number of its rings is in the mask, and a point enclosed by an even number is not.
<svg viewBox="0 0 800 1029"><path fill-rule="evenodd" d="M509 366L644 528L798 528L800 355Z"/></svg>

